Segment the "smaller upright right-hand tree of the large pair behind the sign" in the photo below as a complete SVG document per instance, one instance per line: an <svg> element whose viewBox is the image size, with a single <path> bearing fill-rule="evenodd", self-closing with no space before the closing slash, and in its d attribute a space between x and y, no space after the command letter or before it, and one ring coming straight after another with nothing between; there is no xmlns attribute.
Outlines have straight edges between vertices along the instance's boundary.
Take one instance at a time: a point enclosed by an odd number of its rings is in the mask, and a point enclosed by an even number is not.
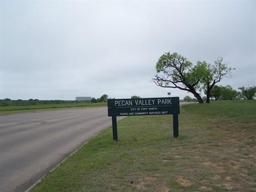
<svg viewBox="0 0 256 192"><path fill-rule="evenodd" d="M223 77L231 77L231 71L235 68L228 67L228 62L223 62L223 58L219 57L214 61L214 65L206 63L205 61L197 62L196 68L202 74L201 84L203 89L206 90L206 103L210 103L210 92L214 85L221 81Z"/></svg>

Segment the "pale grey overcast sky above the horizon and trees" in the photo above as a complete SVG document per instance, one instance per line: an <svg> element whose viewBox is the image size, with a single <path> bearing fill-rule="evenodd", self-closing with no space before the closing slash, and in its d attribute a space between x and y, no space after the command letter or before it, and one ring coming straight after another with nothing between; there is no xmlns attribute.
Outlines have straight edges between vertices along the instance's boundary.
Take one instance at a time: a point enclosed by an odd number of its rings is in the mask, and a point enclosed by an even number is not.
<svg viewBox="0 0 256 192"><path fill-rule="evenodd" d="M1 94L12 100L190 95L150 79L165 52L256 85L255 1L1 1Z"/></svg>

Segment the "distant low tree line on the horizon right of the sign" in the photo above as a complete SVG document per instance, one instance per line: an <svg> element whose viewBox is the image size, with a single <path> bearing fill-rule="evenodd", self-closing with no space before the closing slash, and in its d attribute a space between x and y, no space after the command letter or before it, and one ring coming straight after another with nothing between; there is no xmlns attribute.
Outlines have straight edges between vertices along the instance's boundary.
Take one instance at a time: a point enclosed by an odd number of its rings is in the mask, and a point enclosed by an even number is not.
<svg viewBox="0 0 256 192"><path fill-rule="evenodd" d="M238 100L238 99L246 99L252 100L256 97L256 86L252 87L239 87L239 91L233 89L230 85L227 86L218 86L214 85L210 91L211 100ZM204 91L206 94L206 90ZM194 101L196 102L196 98L191 98L188 95L183 98L184 101ZM203 100L206 101L206 97L203 97Z"/></svg>

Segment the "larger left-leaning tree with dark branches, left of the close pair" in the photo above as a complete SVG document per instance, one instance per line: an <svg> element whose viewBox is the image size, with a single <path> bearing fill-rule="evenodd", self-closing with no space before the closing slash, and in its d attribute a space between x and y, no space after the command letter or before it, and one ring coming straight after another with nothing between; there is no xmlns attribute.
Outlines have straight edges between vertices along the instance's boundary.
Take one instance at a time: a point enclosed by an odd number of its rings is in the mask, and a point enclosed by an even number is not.
<svg viewBox="0 0 256 192"><path fill-rule="evenodd" d="M201 95L197 92L201 75L199 68L178 53L163 54L156 63L157 74L151 79L157 86L177 88L194 94L199 103L203 103Z"/></svg>

